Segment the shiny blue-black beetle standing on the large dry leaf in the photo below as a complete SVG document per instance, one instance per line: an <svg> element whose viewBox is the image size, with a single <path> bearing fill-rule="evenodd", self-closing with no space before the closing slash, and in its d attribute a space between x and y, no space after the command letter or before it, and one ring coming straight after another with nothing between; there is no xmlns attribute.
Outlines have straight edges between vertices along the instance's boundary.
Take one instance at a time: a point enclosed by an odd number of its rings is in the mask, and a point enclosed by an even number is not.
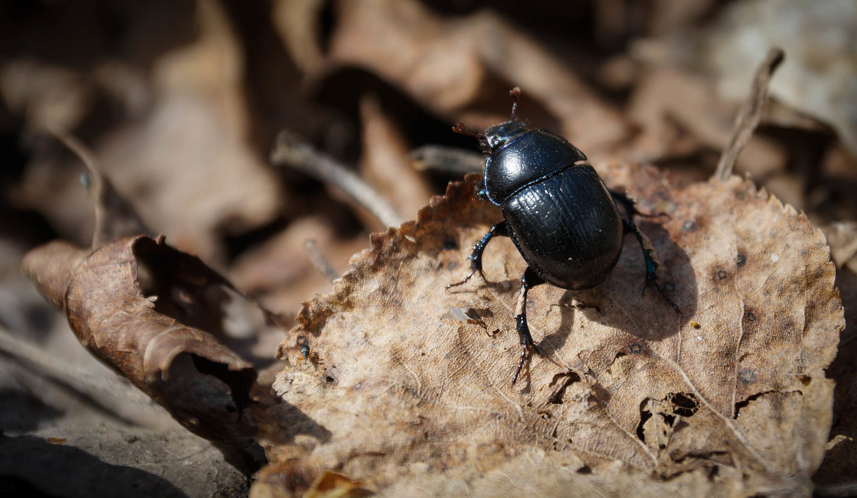
<svg viewBox="0 0 857 498"><path fill-rule="evenodd" d="M527 269L521 277L515 329L524 347L512 385L518 381L524 359L536 349L527 325L527 292L542 283L559 288L582 290L593 288L613 270L622 251L622 239L632 233L643 250L645 284L662 294L675 311L679 311L657 283L660 265L650 240L632 222L620 216L616 201L627 216L641 214L631 199L604 186L586 156L566 139L546 130L530 129L515 121L520 89L509 92L512 118L484 133L471 133L462 123L452 128L480 140L488 151L484 187L476 196L488 199L503 210L503 221L497 223L470 253L470 273L452 288L470 280L477 271L482 274L482 252L494 236L511 237L524 257ZM615 199L615 200L614 200Z"/></svg>

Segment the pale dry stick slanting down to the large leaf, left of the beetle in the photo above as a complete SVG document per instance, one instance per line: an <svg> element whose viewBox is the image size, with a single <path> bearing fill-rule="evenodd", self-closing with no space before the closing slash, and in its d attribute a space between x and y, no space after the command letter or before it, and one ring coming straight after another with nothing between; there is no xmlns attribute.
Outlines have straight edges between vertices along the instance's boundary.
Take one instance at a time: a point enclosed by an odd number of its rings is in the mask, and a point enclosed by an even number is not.
<svg viewBox="0 0 857 498"><path fill-rule="evenodd" d="M271 151L271 163L275 166L290 166L316 180L339 188L372 213L385 227L398 227L405 222L405 218L393 209L387 199L362 178L333 157L315 150L315 147L295 133L288 130L279 133Z"/></svg>

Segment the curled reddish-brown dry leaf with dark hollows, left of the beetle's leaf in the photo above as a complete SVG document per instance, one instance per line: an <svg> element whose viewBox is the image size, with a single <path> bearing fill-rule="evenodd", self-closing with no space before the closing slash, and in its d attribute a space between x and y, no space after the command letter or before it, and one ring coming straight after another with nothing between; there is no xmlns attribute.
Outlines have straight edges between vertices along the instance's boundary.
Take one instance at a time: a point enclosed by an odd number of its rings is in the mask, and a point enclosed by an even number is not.
<svg viewBox="0 0 857 498"><path fill-rule="evenodd" d="M222 276L145 236L94 250L51 242L24 271L69 319L84 347L213 442L246 447L255 430L253 365L207 331L222 322Z"/></svg>

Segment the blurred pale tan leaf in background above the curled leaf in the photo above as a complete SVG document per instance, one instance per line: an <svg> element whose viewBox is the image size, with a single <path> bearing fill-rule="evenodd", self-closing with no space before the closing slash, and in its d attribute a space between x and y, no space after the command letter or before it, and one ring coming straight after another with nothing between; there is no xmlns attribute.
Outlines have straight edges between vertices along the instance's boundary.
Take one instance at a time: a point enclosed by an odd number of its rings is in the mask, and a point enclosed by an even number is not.
<svg viewBox="0 0 857 498"><path fill-rule="evenodd" d="M196 17L195 43L154 64L144 119L112 130L98 151L149 226L212 262L225 256L222 232L270 222L282 196L247 140L244 61L230 20L210 0Z"/></svg>

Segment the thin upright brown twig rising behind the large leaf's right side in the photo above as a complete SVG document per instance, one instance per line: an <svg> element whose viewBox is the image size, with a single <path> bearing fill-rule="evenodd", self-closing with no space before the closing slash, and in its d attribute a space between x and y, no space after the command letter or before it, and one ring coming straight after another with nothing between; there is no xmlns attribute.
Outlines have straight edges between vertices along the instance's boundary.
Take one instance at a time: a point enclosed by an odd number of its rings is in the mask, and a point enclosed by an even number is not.
<svg viewBox="0 0 857 498"><path fill-rule="evenodd" d="M744 105L741 106L738 117L735 118L732 136L729 137L729 144L720 155L720 160L717 161L717 169L715 169L714 175L712 175L713 178L720 181L727 181L729 176L732 175L735 159L752 136L753 130L758 127L764 103L768 100L770 78L774 74L776 67L782 62L784 56L785 54L782 49L770 49L768 56L764 58L764 62L756 69L756 76L753 78L752 87L750 88L750 95L747 97Z"/></svg>

